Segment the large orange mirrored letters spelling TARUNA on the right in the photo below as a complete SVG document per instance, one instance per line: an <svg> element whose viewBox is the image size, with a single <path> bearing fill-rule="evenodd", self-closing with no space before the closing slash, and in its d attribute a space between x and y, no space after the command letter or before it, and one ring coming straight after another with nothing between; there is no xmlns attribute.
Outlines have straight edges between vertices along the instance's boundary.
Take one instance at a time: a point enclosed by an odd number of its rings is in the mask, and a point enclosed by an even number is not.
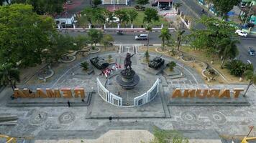
<svg viewBox="0 0 256 143"><path fill-rule="evenodd" d="M230 98L231 93L230 89L185 89L183 94L181 92L181 89L175 89L173 91L173 94L170 95L171 98ZM234 98L238 98L240 92L243 92L244 89L233 89L233 96Z"/></svg>

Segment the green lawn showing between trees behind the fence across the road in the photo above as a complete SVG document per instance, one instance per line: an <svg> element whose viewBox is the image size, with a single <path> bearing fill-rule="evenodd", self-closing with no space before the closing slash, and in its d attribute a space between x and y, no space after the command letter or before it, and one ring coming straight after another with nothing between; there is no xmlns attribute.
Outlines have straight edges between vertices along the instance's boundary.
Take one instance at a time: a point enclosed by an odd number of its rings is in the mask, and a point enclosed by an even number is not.
<svg viewBox="0 0 256 143"><path fill-rule="evenodd" d="M134 8L124 8L124 9L134 9ZM138 16L133 21L134 28L135 27L137 27L137 28L141 27L142 25L145 26L145 24L143 24L143 18L145 16L144 11L137 11L137 12L138 12ZM78 26L88 27L88 21L86 20L85 17L78 18L78 23L77 24L78 24ZM93 24L100 25L100 24L97 24L96 21L93 21ZM163 24L164 26L169 26L170 25L169 22L166 21L163 16L160 16L159 21L152 22L153 27L155 27L155 26L160 27L161 24ZM130 25L131 24L129 22L129 24L127 24L127 27L130 27ZM111 25L107 25L107 27L109 27L109 26L111 26ZM112 26L116 26L116 24L112 24ZM122 24L122 27L124 27L124 24Z"/></svg>

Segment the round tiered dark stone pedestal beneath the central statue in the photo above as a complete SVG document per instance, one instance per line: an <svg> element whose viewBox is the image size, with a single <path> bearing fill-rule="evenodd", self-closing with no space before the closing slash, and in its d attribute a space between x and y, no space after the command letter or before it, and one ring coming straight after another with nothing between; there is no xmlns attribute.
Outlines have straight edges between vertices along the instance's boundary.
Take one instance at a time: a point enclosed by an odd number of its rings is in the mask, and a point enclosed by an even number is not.
<svg viewBox="0 0 256 143"><path fill-rule="evenodd" d="M135 73L134 70L125 71L123 69L120 74L116 77L116 82L126 90L133 89L140 82L140 77Z"/></svg>

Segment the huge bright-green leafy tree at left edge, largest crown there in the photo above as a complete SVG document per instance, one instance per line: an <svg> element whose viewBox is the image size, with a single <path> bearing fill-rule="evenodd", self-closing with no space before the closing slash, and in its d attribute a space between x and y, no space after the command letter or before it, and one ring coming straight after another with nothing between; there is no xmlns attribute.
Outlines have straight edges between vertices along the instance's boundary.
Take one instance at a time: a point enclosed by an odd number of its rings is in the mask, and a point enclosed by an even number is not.
<svg viewBox="0 0 256 143"><path fill-rule="evenodd" d="M12 4L0 6L0 61L19 66L35 66L42 62L42 50L50 45L56 32L50 16L39 16L32 6Z"/></svg>

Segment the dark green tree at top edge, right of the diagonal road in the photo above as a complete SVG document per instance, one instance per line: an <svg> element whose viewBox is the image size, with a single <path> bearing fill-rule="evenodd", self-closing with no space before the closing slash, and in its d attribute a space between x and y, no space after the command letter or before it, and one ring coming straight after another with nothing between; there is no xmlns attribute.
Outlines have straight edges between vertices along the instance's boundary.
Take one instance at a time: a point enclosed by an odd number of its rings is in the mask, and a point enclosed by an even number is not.
<svg viewBox="0 0 256 143"><path fill-rule="evenodd" d="M233 9L234 6L237 6L240 0L213 0L214 8L219 11L221 16L227 19L227 13Z"/></svg>

